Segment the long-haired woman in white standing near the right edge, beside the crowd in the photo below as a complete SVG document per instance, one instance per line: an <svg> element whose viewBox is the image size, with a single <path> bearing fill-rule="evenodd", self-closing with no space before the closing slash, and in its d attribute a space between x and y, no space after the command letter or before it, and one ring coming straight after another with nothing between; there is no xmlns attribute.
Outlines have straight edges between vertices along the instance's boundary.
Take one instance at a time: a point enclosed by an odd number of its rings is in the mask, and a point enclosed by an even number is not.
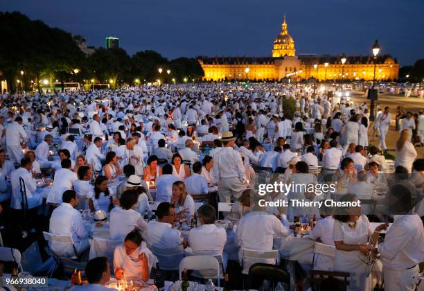
<svg viewBox="0 0 424 291"><path fill-rule="evenodd" d="M395 166L403 166L408 173L412 173L412 164L417 155L414 145L409 141L409 130L402 130L396 141Z"/></svg>

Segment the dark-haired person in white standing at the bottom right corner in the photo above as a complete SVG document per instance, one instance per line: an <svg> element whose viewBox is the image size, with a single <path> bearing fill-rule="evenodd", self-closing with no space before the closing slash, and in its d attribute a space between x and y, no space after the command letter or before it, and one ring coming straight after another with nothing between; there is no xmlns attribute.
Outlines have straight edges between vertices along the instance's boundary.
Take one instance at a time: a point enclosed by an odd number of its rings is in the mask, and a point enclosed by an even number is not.
<svg viewBox="0 0 424 291"><path fill-rule="evenodd" d="M396 215L384 242L375 249L383 265L385 290L416 290L418 264L424 260L423 222L412 212L416 189L397 184L388 196L389 208Z"/></svg>

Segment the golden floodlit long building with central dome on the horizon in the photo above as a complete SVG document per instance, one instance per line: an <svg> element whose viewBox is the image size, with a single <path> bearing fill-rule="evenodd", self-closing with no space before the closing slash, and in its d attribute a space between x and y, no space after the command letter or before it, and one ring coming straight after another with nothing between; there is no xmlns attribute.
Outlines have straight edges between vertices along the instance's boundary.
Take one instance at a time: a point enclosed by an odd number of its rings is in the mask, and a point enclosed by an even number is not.
<svg viewBox="0 0 424 291"><path fill-rule="evenodd" d="M390 55L331 56L295 55L293 37L285 21L274 40L270 57L198 57L204 80L272 80L283 78L299 81L308 78L324 80L396 80L399 64ZM342 64L342 59L346 59Z"/></svg>

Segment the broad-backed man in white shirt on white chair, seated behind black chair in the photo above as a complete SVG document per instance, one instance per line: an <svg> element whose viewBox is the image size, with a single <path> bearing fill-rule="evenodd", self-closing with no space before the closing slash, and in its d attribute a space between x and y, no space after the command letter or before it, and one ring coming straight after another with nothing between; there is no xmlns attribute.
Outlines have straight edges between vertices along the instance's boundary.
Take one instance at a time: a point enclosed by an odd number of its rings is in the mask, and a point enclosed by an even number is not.
<svg viewBox="0 0 424 291"><path fill-rule="evenodd" d="M251 195L251 212L240 218L236 229L236 245L240 245L239 261L242 261L242 249L255 251L271 251L274 238L284 238L289 231L275 215L266 213L266 207L260 206L263 196L257 191ZM274 264L273 259L261 260L261 263ZM247 264L258 263L257 261Z"/></svg>

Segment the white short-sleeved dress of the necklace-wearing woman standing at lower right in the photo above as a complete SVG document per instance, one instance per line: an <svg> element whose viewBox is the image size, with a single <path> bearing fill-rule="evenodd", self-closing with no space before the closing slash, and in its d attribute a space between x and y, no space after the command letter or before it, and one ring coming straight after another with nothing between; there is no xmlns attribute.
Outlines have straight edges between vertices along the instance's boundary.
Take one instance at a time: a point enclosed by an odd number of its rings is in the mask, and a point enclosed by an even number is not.
<svg viewBox="0 0 424 291"><path fill-rule="evenodd" d="M339 220L335 220L334 222L334 240L342 241L348 245L366 245L372 233L371 224L365 215L360 216L355 228L349 227L346 222L340 222ZM367 276L368 266L361 260L366 262L368 261L368 257L360 251L347 252L336 250L334 270L351 273L347 290L371 290L371 275Z"/></svg>

